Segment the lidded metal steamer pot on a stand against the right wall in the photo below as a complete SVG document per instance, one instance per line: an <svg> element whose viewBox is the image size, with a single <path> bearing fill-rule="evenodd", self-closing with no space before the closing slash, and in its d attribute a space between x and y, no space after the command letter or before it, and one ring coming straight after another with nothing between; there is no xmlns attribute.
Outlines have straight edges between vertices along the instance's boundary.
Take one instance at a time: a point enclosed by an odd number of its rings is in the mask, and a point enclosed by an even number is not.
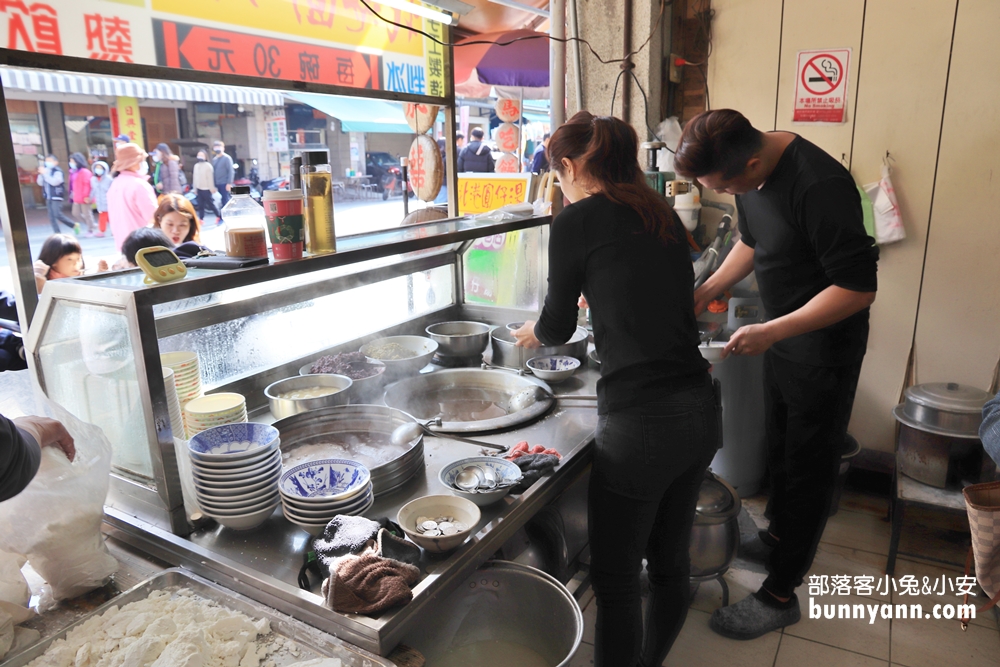
<svg viewBox="0 0 1000 667"><path fill-rule="evenodd" d="M955 382L907 388L892 411L899 422L900 472L941 489L992 480L996 468L979 441L983 404L990 398Z"/></svg>

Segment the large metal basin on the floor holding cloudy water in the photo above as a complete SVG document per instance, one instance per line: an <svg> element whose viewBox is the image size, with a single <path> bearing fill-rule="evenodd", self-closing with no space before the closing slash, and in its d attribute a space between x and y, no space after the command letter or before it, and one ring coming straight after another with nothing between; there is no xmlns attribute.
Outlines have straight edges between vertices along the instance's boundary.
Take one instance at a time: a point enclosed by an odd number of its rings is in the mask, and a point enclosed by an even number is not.
<svg viewBox="0 0 1000 667"><path fill-rule="evenodd" d="M494 561L435 603L403 643L435 665L566 667L583 639L569 591L535 568Z"/></svg>

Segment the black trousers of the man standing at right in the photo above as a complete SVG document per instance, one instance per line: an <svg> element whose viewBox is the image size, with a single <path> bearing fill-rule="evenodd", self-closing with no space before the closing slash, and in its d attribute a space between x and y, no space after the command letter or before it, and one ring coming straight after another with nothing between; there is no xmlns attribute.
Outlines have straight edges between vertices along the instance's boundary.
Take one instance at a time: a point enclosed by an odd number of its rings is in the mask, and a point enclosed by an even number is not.
<svg viewBox="0 0 1000 667"><path fill-rule="evenodd" d="M764 411L771 497L780 539L764 588L791 597L812 566L837 483L861 362L825 368L764 355Z"/></svg>

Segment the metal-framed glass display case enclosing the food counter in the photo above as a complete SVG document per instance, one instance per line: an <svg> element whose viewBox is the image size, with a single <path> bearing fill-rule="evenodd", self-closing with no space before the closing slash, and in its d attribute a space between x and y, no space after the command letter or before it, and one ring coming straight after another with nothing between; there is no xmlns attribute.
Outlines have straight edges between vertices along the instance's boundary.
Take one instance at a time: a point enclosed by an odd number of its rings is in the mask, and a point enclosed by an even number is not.
<svg viewBox="0 0 1000 667"><path fill-rule="evenodd" d="M333 255L190 269L183 281L152 286L139 269L50 281L27 349L46 394L111 441L108 505L184 535L191 526L161 353L196 351L204 390L239 392L253 415L266 410L264 387L323 354L379 335L422 334L460 318L466 304L536 311L549 221L398 228L339 239Z"/></svg>

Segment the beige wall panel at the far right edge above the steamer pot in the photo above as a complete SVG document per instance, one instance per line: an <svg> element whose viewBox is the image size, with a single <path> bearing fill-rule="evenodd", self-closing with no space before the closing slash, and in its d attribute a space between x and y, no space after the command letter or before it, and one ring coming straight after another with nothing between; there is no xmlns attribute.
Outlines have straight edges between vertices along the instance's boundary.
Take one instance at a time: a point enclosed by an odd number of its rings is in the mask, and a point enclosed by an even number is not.
<svg viewBox="0 0 1000 667"><path fill-rule="evenodd" d="M962 0L917 320L916 381L990 386L1000 356L1000 2Z"/></svg>

